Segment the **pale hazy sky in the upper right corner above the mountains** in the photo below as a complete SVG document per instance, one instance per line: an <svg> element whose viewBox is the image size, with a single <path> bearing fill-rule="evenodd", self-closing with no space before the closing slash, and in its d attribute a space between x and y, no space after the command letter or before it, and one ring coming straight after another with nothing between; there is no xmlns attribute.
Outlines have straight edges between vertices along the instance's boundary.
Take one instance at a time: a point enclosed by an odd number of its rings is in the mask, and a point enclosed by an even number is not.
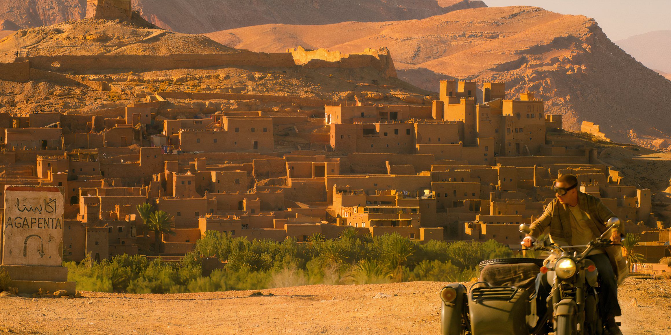
<svg viewBox="0 0 671 335"><path fill-rule="evenodd" d="M596 19L612 41L671 30L671 0L484 0L489 7L528 5Z"/></svg>

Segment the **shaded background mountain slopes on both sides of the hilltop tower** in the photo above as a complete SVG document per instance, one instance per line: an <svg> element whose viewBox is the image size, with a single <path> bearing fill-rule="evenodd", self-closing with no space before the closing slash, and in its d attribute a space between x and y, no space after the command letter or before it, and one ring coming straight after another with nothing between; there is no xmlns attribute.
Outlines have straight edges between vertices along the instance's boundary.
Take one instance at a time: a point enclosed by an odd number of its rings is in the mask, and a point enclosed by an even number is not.
<svg viewBox="0 0 671 335"><path fill-rule="evenodd" d="M189 34L266 23L423 19L448 11L486 7L478 0L133 0L132 3L134 9L158 27ZM0 0L0 20L20 27L82 19L85 12L85 0Z"/></svg>

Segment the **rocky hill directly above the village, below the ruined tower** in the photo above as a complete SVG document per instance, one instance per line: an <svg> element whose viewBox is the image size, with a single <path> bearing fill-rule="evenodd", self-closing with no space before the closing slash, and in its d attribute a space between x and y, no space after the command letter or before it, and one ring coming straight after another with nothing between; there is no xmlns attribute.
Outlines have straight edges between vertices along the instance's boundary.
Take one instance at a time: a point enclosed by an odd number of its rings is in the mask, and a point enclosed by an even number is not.
<svg viewBox="0 0 671 335"><path fill-rule="evenodd" d="M387 51L377 52L386 55ZM176 58L166 57L155 61L145 60L144 62L149 62L146 64L129 65L129 58L123 57L172 54L229 54L231 57L227 59L236 59L241 63L235 63L238 64L236 66L207 66L198 65L196 60L182 63L184 67L180 67L179 60L189 58L178 58L174 61ZM277 62L278 65L275 66L260 64L254 62L259 55L241 53L240 50L223 46L203 35L158 29L142 19L133 22L83 19L49 27L19 29L16 34L0 40L0 62L12 62L17 55L59 56L54 60L42 61L50 64L49 68L40 68L40 62L34 61L34 69L42 71L36 72L36 76L31 75L30 82L0 80L0 111L17 115L36 111L95 112L138 102L148 94L158 91L269 94L292 96L303 102L306 98L312 101L303 104L304 107L301 103L273 102L272 99L225 99L225 102L221 102L224 105L219 106L220 110L227 111L281 111L287 115L323 115L325 103L354 103L356 99L364 103L397 105L430 104L435 98L433 92L396 78L395 72L390 73L389 69L393 69L391 64L381 68L346 68L339 67L339 64L303 67L295 66L291 62L291 54L287 54L289 62ZM87 60L62 57L93 55L98 56L96 64L113 64L113 67L89 67ZM111 56L119 57L111 60ZM245 62L245 58L252 62ZM142 62L140 58L133 59ZM154 68L151 62L168 62L172 67ZM53 73L70 74L72 70L65 68L72 66L79 69L76 76L64 78ZM85 80L107 82L109 90L97 89L93 84L82 84ZM319 103L314 103L315 100ZM201 107L205 108L204 104L195 104L189 110L197 113ZM323 121L317 122L319 119L315 118L310 120L315 121L311 124L323 127Z"/></svg>

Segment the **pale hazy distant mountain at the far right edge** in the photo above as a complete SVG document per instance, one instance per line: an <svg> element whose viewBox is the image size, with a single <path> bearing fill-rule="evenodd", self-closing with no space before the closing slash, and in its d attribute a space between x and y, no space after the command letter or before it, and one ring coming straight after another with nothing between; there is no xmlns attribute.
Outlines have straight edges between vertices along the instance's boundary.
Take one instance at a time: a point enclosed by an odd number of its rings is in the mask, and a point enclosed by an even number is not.
<svg viewBox="0 0 671 335"><path fill-rule="evenodd" d="M648 68L671 73L671 30L650 31L615 44Z"/></svg>

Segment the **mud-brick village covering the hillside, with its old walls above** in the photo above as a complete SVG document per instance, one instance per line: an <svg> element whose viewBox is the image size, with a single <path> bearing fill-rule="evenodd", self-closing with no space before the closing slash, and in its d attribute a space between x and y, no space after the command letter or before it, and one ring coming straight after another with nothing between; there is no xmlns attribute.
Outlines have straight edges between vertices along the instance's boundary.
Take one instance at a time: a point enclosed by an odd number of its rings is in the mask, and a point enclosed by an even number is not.
<svg viewBox="0 0 671 335"><path fill-rule="evenodd" d="M118 19L131 13L101 6L91 15ZM113 90L115 83L71 73L111 64L165 70L293 64L295 57L313 68L395 71L391 57L374 52L337 62L330 54L292 52L202 60L36 56L0 66L4 80L60 78L99 91ZM252 103L217 108L224 100ZM62 186L64 259L91 255L101 261L123 254L183 256L208 230L303 242L315 234L332 239L354 227L373 237L397 232L422 242L494 240L517 250L519 224L539 216L554 197L550 186L558 176L575 174L582 192L601 198L623 218L627 232L644 237L635 252L650 263L669 255L671 230L651 213L651 191L628 184L599 160L591 141L564 131L562 115L546 114L533 92L513 100L503 82L478 87L444 80L437 100L405 100L386 105L356 98L335 105L292 96L160 91L93 113L4 113L0 183ZM322 114L254 111L263 101L298 109L322 105ZM315 122L326 132L301 132ZM598 126L583 128L595 140L607 140ZM286 137L302 141L292 147ZM148 228L140 204L172 218L170 233Z"/></svg>

